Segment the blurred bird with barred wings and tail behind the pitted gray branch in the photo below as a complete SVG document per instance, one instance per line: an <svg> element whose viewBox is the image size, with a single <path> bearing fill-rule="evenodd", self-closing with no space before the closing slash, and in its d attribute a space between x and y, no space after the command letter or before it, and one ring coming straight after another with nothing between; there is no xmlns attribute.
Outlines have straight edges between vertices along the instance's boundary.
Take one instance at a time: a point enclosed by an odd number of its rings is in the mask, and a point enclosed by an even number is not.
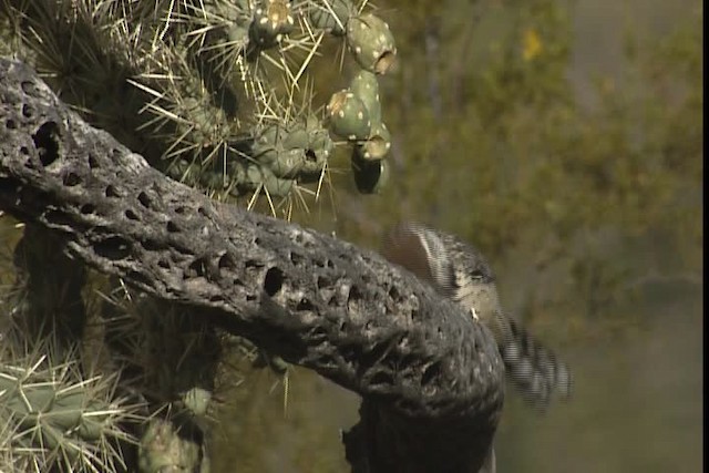
<svg viewBox="0 0 709 473"><path fill-rule="evenodd" d="M384 238L382 254L462 304L493 332L507 378L532 405L544 409L553 397L569 395L568 368L502 311L495 278L475 248L442 232L401 224Z"/></svg>

